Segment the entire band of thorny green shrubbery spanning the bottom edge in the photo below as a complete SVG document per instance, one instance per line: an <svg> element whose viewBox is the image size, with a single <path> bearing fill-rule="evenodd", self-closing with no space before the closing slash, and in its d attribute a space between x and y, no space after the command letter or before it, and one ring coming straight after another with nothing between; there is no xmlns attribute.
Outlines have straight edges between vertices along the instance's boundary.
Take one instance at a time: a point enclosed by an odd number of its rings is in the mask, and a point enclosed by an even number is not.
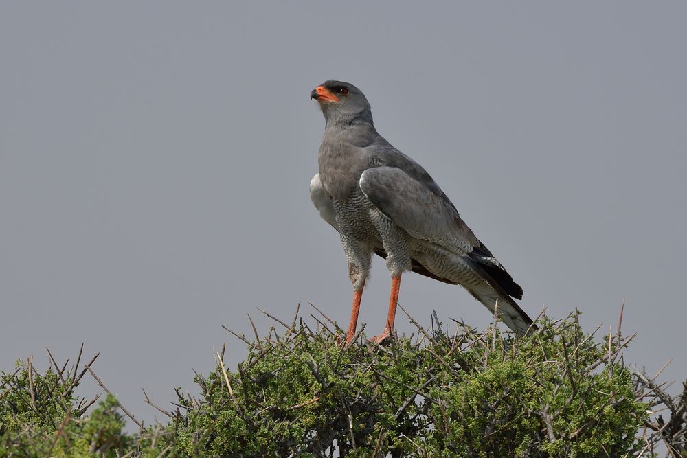
<svg viewBox="0 0 687 458"><path fill-rule="evenodd" d="M168 424L134 435L113 396L83 416L76 365L40 375L20 362L1 374L0 457L651 456L663 420L638 434L660 389L624 365L629 339L585 335L576 314L538 324L513 338L433 321L416 337L343 348L341 330L294 320L281 335L240 336L236 371L196 376L199 398L180 393L176 411L160 409Z"/></svg>

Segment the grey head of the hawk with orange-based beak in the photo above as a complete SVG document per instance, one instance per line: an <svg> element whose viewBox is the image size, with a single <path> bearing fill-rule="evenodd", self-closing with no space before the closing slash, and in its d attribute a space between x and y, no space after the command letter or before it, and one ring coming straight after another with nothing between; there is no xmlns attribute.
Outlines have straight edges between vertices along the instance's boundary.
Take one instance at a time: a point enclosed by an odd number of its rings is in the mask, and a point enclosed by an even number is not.
<svg viewBox="0 0 687 458"><path fill-rule="evenodd" d="M368 99L350 82L328 80L311 91L310 98L317 100L324 118L350 122L353 119L369 119L372 112Z"/></svg>

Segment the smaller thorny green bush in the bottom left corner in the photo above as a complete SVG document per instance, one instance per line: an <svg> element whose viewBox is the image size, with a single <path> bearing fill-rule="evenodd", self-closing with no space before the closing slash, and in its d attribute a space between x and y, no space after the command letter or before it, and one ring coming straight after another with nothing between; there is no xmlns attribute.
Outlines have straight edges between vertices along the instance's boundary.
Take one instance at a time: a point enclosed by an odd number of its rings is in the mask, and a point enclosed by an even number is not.
<svg viewBox="0 0 687 458"><path fill-rule="evenodd" d="M120 457L158 450L150 439L124 432L120 404L111 394L83 416L95 402L74 394L84 372L51 367L39 374L30 358L17 361L14 373L0 374L0 457Z"/></svg>

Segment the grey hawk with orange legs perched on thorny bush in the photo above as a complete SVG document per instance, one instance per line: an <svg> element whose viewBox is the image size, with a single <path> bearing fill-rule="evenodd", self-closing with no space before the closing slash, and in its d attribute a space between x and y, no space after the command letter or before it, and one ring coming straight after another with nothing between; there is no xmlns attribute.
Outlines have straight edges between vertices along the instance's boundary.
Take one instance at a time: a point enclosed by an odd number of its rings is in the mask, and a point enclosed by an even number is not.
<svg viewBox="0 0 687 458"><path fill-rule="evenodd" d="M465 288L517 334L536 329L515 299L523 290L460 218L429 173L374 128L353 84L327 80L311 91L325 119L311 200L339 231L353 301L346 347L355 336L372 253L385 258L391 293L382 343L394 333L401 276L412 271Z"/></svg>

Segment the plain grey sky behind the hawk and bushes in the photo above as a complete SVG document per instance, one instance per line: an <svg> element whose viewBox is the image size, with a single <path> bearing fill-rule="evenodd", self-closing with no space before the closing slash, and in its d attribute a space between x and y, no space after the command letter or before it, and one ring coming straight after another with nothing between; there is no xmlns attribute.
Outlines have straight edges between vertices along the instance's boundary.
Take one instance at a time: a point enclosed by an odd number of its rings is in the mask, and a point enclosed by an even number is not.
<svg viewBox="0 0 687 458"><path fill-rule="evenodd" d="M255 307L351 287L308 197L327 78L360 87L525 290L532 316L639 332L627 360L687 376L687 3L4 2L0 368L101 352L150 421ZM361 323L381 331L376 262ZM486 309L406 275L420 321ZM305 309L307 310L307 309ZM447 320L448 321L448 320ZM399 330L410 330L403 315ZM607 329L607 328L606 328ZM85 395L97 387L92 383Z"/></svg>

